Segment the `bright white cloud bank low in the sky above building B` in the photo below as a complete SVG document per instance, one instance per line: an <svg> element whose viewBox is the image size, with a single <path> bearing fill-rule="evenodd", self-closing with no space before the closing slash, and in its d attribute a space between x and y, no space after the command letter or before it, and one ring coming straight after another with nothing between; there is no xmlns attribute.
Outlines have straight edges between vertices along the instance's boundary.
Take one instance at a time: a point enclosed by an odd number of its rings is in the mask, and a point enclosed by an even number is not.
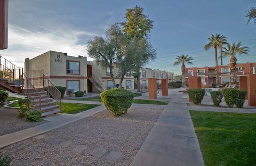
<svg viewBox="0 0 256 166"><path fill-rule="evenodd" d="M1 50L6 59L24 67L24 59L36 57L46 51L59 51L70 56L87 56L86 43L99 34L73 29L44 27L42 31L30 31L18 26L8 27L8 49ZM88 60L92 60L88 57Z"/></svg>

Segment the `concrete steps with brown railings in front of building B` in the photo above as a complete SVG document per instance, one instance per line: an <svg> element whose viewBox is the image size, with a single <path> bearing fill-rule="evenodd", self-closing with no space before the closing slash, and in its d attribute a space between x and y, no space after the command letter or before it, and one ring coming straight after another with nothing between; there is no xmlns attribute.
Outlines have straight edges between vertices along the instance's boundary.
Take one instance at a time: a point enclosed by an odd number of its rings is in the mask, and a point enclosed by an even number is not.
<svg viewBox="0 0 256 166"><path fill-rule="evenodd" d="M44 89L42 89L42 88L36 89L36 90L38 91L40 96L38 95L37 92L29 93L27 91L27 89L24 89L22 92L24 95L30 96L30 97L28 97L28 99L30 99L32 105L36 103L36 101L34 101L33 99L41 98L41 112L42 112L41 116L42 117L44 117L46 115L53 114L53 113L58 113L61 111L60 106L56 104L57 102L53 98L51 98L51 95L48 95L47 91L44 91ZM33 96L33 97L31 97L31 96ZM39 106L35 106L34 110L39 111Z"/></svg>

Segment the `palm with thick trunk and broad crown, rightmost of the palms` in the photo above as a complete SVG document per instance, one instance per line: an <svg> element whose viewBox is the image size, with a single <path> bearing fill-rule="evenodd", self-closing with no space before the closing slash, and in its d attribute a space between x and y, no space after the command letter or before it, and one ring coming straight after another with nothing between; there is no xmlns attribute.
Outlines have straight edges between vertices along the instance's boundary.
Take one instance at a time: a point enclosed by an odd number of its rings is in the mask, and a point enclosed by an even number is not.
<svg viewBox="0 0 256 166"><path fill-rule="evenodd" d="M231 75L231 84L236 84L236 54L245 54L248 55L249 47L242 47L242 42L234 42L232 45L229 43L226 44L227 47L223 47L223 57L230 56L230 75Z"/></svg>

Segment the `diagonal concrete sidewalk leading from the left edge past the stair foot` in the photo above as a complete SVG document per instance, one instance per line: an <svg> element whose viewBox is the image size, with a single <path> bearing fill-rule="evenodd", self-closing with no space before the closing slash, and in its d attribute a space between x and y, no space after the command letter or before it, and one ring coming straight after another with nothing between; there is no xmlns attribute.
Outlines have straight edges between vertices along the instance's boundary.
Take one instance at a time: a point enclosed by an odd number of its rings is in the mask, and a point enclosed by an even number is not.
<svg viewBox="0 0 256 166"><path fill-rule="evenodd" d="M89 109L87 111L78 113L76 115L60 114L46 117L44 118L44 120L50 122L0 136L0 148L21 140L25 140L32 136L36 136L38 134L42 134L44 132L53 130L54 128L58 128L60 126L64 126L66 124L78 121L79 119L83 119L85 117L88 117L103 110L105 110L105 107L104 105L101 105L99 107L95 107L93 109Z"/></svg>

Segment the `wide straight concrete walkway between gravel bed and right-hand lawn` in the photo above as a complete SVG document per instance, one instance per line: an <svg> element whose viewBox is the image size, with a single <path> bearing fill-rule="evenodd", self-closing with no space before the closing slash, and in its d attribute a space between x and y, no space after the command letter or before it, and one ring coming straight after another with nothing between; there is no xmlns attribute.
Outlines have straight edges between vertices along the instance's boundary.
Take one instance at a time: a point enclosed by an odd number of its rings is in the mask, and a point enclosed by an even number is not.
<svg viewBox="0 0 256 166"><path fill-rule="evenodd" d="M160 115L131 166L203 166L186 103L171 102Z"/></svg>

